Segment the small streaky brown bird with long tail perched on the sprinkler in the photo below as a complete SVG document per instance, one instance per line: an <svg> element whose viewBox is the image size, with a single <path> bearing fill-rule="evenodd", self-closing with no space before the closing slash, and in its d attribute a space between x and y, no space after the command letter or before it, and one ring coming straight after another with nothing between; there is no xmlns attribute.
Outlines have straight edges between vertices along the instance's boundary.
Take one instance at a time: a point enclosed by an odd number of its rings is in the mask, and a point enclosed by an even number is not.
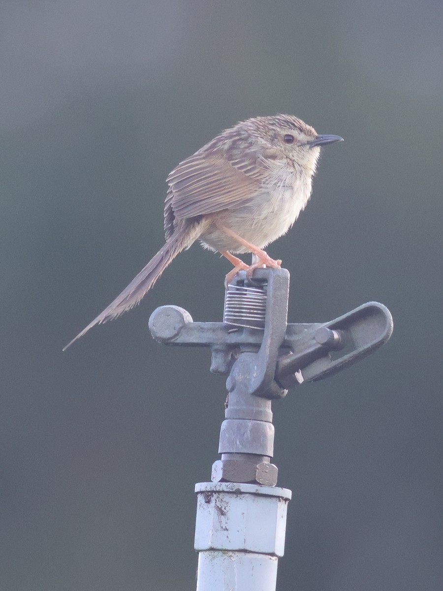
<svg viewBox="0 0 443 591"><path fill-rule="evenodd" d="M128 287L63 349L95 324L139 303L172 259L193 242L219 251L240 269L279 267L262 249L282 236L311 196L320 147L342 141L318 135L292 115L242 121L178 164L167 178L165 245ZM252 252L254 265L233 255Z"/></svg>

